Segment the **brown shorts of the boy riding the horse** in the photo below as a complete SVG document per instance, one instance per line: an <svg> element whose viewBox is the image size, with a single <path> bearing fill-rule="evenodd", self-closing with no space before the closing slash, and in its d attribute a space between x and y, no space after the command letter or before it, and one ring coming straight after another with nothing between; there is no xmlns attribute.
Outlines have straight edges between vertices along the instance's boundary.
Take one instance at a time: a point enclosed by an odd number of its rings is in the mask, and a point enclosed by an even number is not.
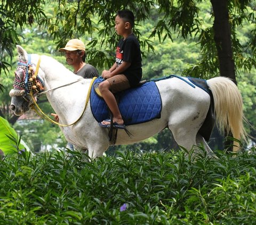
<svg viewBox="0 0 256 225"><path fill-rule="evenodd" d="M125 77L124 74L119 74L114 77L110 77L107 79L107 81L110 84L110 90L112 93L117 93L131 87L129 80Z"/></svg>

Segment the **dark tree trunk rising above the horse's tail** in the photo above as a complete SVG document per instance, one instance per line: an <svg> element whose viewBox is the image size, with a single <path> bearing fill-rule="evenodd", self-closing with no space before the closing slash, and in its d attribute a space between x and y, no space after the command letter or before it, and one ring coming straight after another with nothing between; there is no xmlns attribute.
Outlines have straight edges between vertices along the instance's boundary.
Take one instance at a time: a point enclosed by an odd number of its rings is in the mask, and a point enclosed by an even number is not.
<svg viewBox="0 0 256 225"><path fill-rule="evenodd" d="M218 51L220 76L229 77L237 84L227 2L228 0L211 0L214 40Z"/></svg>

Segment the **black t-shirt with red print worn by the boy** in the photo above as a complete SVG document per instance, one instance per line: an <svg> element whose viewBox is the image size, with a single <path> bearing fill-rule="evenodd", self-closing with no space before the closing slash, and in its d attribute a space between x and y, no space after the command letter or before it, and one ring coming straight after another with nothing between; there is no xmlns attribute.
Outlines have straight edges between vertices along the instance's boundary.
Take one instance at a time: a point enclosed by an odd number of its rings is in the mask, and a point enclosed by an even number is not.
<svg viewBox="0 0 256 225"><path fill-rule="evenodd" d="M131 87L137 85L142 77L142 64L140 44L134 34L129 35L125 40L122 38L116 47L116 64L130 62L131 65L123 74L127 77Z"/></svg>

